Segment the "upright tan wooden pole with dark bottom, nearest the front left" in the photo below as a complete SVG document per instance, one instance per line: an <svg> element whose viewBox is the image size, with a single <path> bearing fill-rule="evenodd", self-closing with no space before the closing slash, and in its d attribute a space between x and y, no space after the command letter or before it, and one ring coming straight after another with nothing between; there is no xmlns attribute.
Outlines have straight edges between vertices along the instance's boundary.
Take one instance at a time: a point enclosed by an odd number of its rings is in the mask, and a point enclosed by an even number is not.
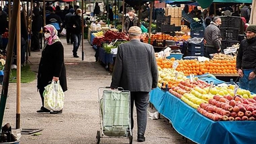
<svg viewBox="0 0 256 144"><path fill-rule="evenodd" d="M18 7L17 17L17 103L16 103L16 129L20 128L21 117L21 11Z"/></svg>

